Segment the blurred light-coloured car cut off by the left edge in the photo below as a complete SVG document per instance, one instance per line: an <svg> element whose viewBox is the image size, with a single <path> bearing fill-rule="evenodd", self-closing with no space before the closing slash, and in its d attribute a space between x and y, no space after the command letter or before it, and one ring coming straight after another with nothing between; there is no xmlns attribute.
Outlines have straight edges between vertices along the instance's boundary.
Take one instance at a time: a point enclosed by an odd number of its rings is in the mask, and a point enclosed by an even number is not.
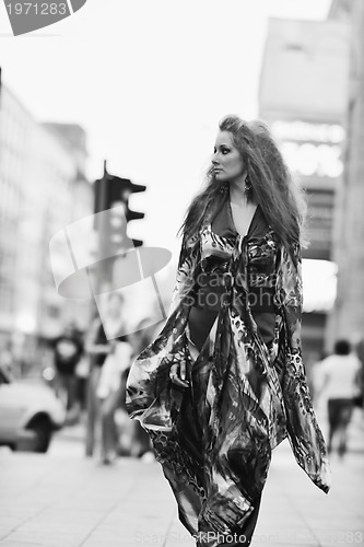
<svg viewBox="0 0 364 547"><path fill-rule="evenodd" d="M64 418L49 387L15 381L0 369L0 445L45 453Z"/></svg>

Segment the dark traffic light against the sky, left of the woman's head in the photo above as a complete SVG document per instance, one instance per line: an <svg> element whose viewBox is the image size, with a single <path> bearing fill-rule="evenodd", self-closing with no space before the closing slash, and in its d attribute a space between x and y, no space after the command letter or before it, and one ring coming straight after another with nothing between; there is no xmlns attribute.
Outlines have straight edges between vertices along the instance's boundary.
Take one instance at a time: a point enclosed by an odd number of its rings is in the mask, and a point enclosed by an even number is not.
<svg viewBox="0 0 364 547"><path fill-rule="evenodd" d="M132 211L129 209L129 197L131 194L144 191L145 186L132 183L129 178L121 178L110 175L104 165L104 176L95 181L95 207L94 212L109 210L109 213L104 219L104 216L95 217L95 229L102 233L104 244L111 245L115 248L115 254L122 248L122 243L127 242L127 223L130 220L139 220L144 218L143 212ZM104 219L103 225L99 224L99 219ZM141 240L132 240L134 247L140 247L143 242Z"/></svg>

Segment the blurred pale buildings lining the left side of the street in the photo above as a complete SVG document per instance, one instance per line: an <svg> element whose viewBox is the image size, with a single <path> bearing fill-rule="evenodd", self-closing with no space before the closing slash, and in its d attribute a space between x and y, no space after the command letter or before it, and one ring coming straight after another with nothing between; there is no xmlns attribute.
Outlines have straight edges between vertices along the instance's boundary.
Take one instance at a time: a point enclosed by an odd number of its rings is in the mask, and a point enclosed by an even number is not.
<svg viewBox="0 0 364 547"><path fill-rule="evenodd" d="M85 160L81 127L39 124L1 85L0 342L23 366L42 360L69 321L87 325L90 303L57 294L48 251L57 230L93 211Z"/></svg>

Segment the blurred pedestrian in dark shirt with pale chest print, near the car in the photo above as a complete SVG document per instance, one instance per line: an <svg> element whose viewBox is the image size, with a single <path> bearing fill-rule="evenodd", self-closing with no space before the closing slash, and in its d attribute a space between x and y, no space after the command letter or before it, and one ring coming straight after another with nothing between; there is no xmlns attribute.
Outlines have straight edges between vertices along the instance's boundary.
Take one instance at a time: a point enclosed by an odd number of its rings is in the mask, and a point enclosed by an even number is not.
<svg viewBox="0 0 364 547"><path fill-rule="evenodd" d="M73 322L52 341L52 347L57 373L56 393L63 399L68 420L73 421L79 412L75 368L83 353L83 340Z"/></svg>

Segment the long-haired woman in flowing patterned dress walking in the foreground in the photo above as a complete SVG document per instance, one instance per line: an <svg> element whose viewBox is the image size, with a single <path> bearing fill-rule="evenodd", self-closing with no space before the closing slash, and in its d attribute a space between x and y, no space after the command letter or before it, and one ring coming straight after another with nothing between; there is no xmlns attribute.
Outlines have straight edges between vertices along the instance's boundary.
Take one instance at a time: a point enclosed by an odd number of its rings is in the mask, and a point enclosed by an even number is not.
<svg viewBox="0 0 364 547"><path fill-rule="evenodd" d="M167 322L131 366L127 407L197 545L249 545L285 437L329 490L301 357L301 200L268 129L237 116L220 123L207 179L181 226Z"/></svg>

